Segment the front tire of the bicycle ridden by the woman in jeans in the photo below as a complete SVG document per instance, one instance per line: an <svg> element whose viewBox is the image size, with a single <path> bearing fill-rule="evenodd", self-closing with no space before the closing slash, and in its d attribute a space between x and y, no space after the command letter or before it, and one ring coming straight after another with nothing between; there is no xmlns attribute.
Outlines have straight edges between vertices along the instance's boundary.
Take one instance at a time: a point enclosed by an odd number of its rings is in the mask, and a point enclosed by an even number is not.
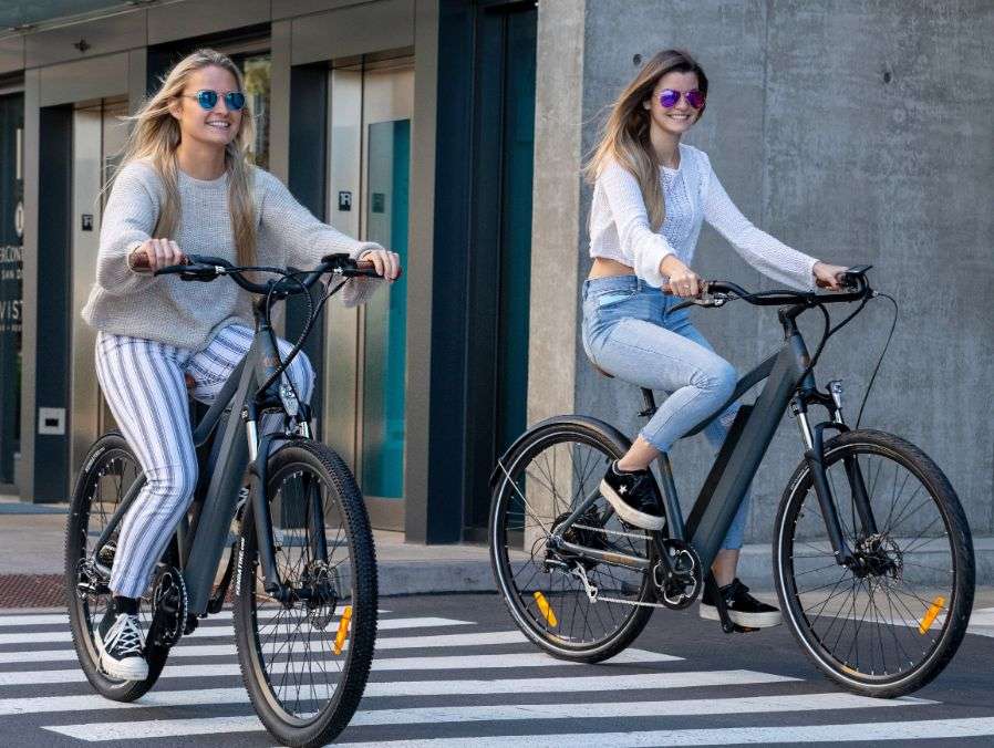
<svg viewBox="0 0 994 748"><path fill-rule="evenodd" d="M852 614L848 614L848 609L846 607L846 600L842 600L842 605L839 611L827 616L828 619L837 619L842 620L843 623L840 624L842 626L841 631L845 631L848 626L847 620L853 620L853 634L859 636L862 626L867 626L868 636L870 638L870 673L863 672L866 669L866 648L863 664L859 664L859 642L856 643L856 667L853 667L853 663L851 662L852 655L851 652L847 653L846 657L839 658L836 652L829 652L828 642L822 640L828 640L830 636L825 636L824 631L819 633L816 631L816 626L818 623L818 619L822 615L822 612L827 609L827 603L822 603L821 610L818 611L815 620L812 622L811 616L808 613L811 613L815 609L815 605L806 609L805 603L803 601L803 592L798 590L798 578L804 573L814 573L811 571L808 572L797 572L795 569L795 561L797 558L803 558L807 555L808 558L817 558L817 551L819 547L817 543L811 542L814 539L808 538L807 541L798 540L803 544L807 544L809 547L809 551L807 554L798 554L794 555L795 549L795 534L797 533L797 527L799 522L804 521L803 517L803 507L805 506L805 498L811 497L811 500L817 505L817 499L814 498L815 494L811 489L811 475L807 468L806 463L801 463L797 470L794 472L794 476L790 479L790 482L787 486L787 489L784 492L784 496L780 500L780 506L776 516L775 523L775 542L774 542L774 574L775 582L777 588L777 594L780 600L780 605L785 612L784 620L787 623L788 627L790 627L795 638L800 644L801 648L808 655L808 657L815 663L815 665L821 669L829 678L841 685L843 688L851 690L853 693L863 695L863 696L873 696L880 698L892 698L897 696L903 696L910 694L914 690L918 690L922 686L930 683L933 678L935 678L943 668L949 664L950 659L955 654L959 648L961 642L963 641L963 636L966 633L966 626L970 622L970 612L973 606L973 594L974 594L974 578L975 578L975 561L973 554L973 542L971 539L970 527L966 522L965 513L963 512L963 508L960 503L959 498L956 497L955 491L953 490L950 481L943 475L942 470L925 455L921 449L913 446L912 444L901 439L900 437L893 436L891 434L887 434L883 432L872 430L872 429L860 429L853 432L843 433L833 439L829 440L825 445L825 466L826 471L828 472L832 466L839 465L839 463L843 463L846 458L851 460L859 461L862 458L862 461L859 463L861 466L868 464L870 457L879 457L881 460L888 460L894 464L894 491L897 491L897 486L899 484L899 469L897 466L900 466L904 470L908 471L909 476L904 478L904 481L900 484L900 490L903 495L905 491L905 487L908 482L910 482L911 477L919 481L920 487L924 487L926 490L926 497L921 505L920 508L909 508L907 505L912 503L915 500L914 494L911 495L910 499L902 499L904 501L904 506L899 509L901 512L899 517L894 517L894 503L898 501L897 498L892 499L891 508L888 515L886 516L886 527L881 530L878 524L878 533L873 536L874 538L879 537L878 543L888 548L888 549L897 549L897 551L889 551L894 559L900 561L901 573L900 579L894 575L894 579L888 581L889 574L868 574L866 579L870 579L871 576L877 581L867 581L866 582L866 599L867 605L862 615L867 615L867 611L872 606L873 617L876 621L873 623L866 623L866 619L857 625L856 616L859 613L859 605L857 604L857 585L852 586ZM868 495L871 499L871 506L873 501L878 502L878 507L881 506L881 499L884 490L888 488L890 482L889 478L887 478L887 469L882 467L886 463L881 464L881 467L876 468L877 477L872 480L872 488L868 486ZM843 468L838 468L843 469ZM869 470L872 471L872 463L869 463ZM881 480L881 491L878 494L876 490L876 485L878 480L880 480L880 472L883 471L884 480ZM867 479L869 481L869 479ZM843 485L845 486L845 485ZM908 489L910 490L910 489ZM918 489L920 490L920 488ZM832 488L832 492L836 490ZM897 495L895 495L897 496ZM928 522L930 515L928 510L930 509L926 506L928 499L932 499L932 503L935 507L935 517L936 519L932 520L932 523L925 527L922 530L922 534L919 539L913 539L911 541L907 540L900 532L897 531L897 528L893 527L895 523L901 520L903 517L908 517L909 522L917 522L919 526L924 527ZM837 511L840 513L840 522L843 524L843 534L848 536L848 540L850 544L853 541L858 542L858 533L855 532L857 528L856 515L851 516L851 526L846 524L846 512L845 512L845 498L839 499L836 496L837 501ZM886 500L884 500L886 501ZM808 511L814 511L814 505L809 505L812 508ZM855 510L853 510L855 511ZM878 508L874 508L874 515L881 515ZM814 515L812 515L814 517ZM824 527L824 520L820 519L820 509L818 510L818 519L821 521ZM877 517L878 523L880 522L880 517ZM931 567L921 562L910 562L909 555L913 550L922 549L921 553L934 553L939 554L942 552L945 543L941 540L935 542L932 541L932 538L926 532L934 532L932 527L935 526L936 522L941 520L941 524L944 528L944 537L948 538L949 548L950 548L950 562L952 563L952 569L945 569L940 567ZM815 520L812 520L814 522ZM852 528L850 530L849 528ZM907 533L904 533L907 534ZM925 540L921 540L921 538L925 538ZM929 543L933 542L933 546L930 548ZM901 549L901 544L903 544L903 550ZM935 550L932 550L934 548ZM812 552L815 551L815 552ZM914 557L919 558L919 557ZM925 557L928 560L930 557ZM921 559L920 559L921 560ZM944 557L940 559L941 561L945 561ZM814 563L814 562L812 562ZM917 569L912 569L915 567ZM838 568L836 571L838 571ZM905 574L904 569L910 569L910 572ZM894 572L895 573L895 572ZM832 574L833 575L833 574ZM951 581L946 581L946 578L952 575ZM842 579L845 580L846 572L842 572ZM914 582L911 579L914 578ZM929 582L919 580L932 580ZM938 581L936 581L938 580ZM809 583L814 584L818 581L815 578L811 578ZM829 582L830 583L830 582ZM861 585L863 582L860 580L859 584ZM893 585L892 585L893 583ZM950 594L949 604L945 604L945 599L940 601L936 596L933 599L931 607L929 606L930 593L921 593L915 584L921 583L930 583L934 585L942 586L943 590L948 589ZM874 586L876 584L876 586ZM838 585L838 583L837 583ZM899 592L899 585L908 586L911 592ZM843 588L845 589L845 588ZM877 592L882 590L883 595L886 595L886 600L888 605L890 606L890 612L883 610L881 598L881 604L878 605L877 601ZM892 601L891 592L895 595L897 602ZM835 592L833 592L835 593ZM897 595L905 595L905 598L899 598ZM907 602L905 602L907 600ZM919 620L914 611L911 607L914 606L914 602L920 605L917 610L924 611L924 614ZM909 605L909 603L911 603ZM835 606L839 606L839 603L836 602ZM921 637L926 636L934 626L934 621L938 619L938 611L945 610L944 620L942 621L938 635L931 640L931 646L928 651L922 650L923 658L921 662L914 663L910 661L912 667L908 671L894 672L892 674L887 673L888 663L887 663L887 654L886 648L890 648L891 638L884 637L883 632L881 632L881 624L883 624L883 631L892 634L892 641L895 645L901 647L901 656L907 656L907 650L904 648L901 642L905 640L905 635L913 637L914 635L914 624L919 624L918 634ZM907 612L907 615L905 615ZM840 613L845 615L840 615ZM898 619L900 617L900 622ZM877 652L874 651L874 645L872 642L872 632L873 626L877 627L878 633L878 642L879 642L879 657L877 659ZM900 634L900 636L898 635ZM841 633L838 638L841 638ZM866 641L866 637L863 638ZM911 641L911 640L909 640ZM909 645L910 646L910 645ZM852 646L850 645L850 650ZM897 650L897 646L894 647ZM848 659L848 662L846 662ZM892 663L899 661L900 657L892 659ZM876 669L880 667L883 673L877 674ZM862 669L860 669L862 668Z"/></svg>

